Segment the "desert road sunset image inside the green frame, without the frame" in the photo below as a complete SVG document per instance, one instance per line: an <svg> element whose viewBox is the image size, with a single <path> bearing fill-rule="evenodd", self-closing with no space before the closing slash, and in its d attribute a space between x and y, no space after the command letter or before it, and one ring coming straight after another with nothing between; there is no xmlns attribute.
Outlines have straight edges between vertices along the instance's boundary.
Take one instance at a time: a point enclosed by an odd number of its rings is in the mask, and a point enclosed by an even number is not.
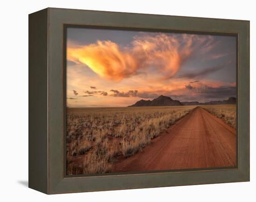
<svg viewBox="0 0 256 202"><path fill-rule="evenodd" d="M236 36L66 36L67 175L236 167Z"/></svg>

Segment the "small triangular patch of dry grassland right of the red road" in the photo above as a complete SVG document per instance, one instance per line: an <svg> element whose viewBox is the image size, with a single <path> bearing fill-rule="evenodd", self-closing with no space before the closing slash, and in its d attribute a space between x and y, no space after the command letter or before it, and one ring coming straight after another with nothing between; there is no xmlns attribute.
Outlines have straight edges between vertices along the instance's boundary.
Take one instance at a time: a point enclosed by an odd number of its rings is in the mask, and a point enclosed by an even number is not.
<svg viewBox="0 0 256 202"><path fill-rule="evenodd" d="M202 108L236 128L236 105L205 105Z"/></svg>

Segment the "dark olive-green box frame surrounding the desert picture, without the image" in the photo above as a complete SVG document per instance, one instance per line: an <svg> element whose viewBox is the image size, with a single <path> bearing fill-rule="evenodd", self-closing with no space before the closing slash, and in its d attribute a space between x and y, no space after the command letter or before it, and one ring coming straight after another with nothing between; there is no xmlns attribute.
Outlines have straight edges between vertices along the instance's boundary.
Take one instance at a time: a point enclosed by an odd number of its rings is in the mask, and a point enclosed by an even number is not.
<svg viewBox="0 0 256 202"><path fill-rule="evenodd" d="M237 167L66 175L68 26L234 34ZM46 8L29 14L29 188L46 194L249 181L249 21Z"/></svg>

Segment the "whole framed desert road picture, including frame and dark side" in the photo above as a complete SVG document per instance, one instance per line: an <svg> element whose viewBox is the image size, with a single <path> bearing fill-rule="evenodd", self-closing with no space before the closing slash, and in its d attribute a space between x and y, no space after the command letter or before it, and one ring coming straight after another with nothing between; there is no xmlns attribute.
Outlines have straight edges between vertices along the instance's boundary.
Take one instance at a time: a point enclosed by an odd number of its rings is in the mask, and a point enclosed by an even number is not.
<svg viewBox="0 0 256 202"><path fill-rule="evenodd" d="M249 21L29 15L29 187L249 181Z"/></svg>

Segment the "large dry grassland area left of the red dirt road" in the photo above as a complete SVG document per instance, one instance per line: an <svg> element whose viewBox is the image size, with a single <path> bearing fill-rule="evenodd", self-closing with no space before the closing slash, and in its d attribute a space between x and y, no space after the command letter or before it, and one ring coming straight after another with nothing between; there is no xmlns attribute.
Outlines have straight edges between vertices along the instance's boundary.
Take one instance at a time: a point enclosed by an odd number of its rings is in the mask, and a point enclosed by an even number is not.
<svg viewBox="0 0 256 202"><path fill-rule="evenodd" d="M193 108L67 108L67 175L111 172Z"/></svg>

